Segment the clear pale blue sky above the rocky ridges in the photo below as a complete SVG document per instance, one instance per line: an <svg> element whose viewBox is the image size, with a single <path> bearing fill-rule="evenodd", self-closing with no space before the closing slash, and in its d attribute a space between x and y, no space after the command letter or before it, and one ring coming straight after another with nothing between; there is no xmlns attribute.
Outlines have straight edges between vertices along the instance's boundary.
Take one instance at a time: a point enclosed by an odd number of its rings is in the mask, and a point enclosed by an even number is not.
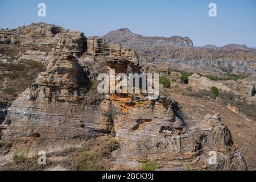
<svg viewBox="0 0 256 182"><path fill-rule="evenodd" d="M46 3L47 16L38 16ZM217 4L210 18L208 5ZM129 28L146 36L188 36L195 46L229 43L256 47L255 0L0 0L0 28L46 22L86 36Z"/></svg>

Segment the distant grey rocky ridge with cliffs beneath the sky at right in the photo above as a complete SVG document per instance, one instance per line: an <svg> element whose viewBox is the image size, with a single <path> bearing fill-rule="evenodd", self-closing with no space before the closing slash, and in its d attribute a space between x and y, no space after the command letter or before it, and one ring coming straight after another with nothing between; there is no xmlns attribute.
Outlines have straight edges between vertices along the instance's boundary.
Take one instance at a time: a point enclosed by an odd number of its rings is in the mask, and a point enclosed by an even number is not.
<svg viewBox="0 0 256 182"><path fill-rule="evenodd" d="M192 40L187 37L146 37L133 34L127 28L110 31L103 38L134 49L142 62L213 75L233 72L256 77L256 49L244 45L193 47Z"/></svg>

